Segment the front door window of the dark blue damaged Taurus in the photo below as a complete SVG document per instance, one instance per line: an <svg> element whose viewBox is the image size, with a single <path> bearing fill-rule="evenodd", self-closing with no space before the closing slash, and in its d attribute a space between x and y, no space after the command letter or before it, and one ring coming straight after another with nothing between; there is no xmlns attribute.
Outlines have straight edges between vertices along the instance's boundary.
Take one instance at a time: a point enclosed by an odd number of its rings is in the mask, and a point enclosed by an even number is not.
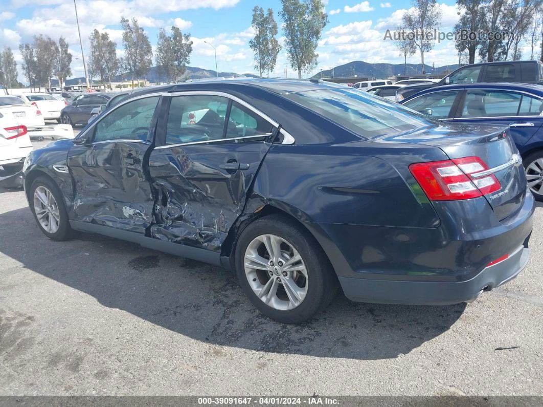
<svg viewBox="0 0 543 407"><path fill-rule="evenodd" d="M147 140L159 96L137 99L104 116L94 127L94 141Z"/></svg>

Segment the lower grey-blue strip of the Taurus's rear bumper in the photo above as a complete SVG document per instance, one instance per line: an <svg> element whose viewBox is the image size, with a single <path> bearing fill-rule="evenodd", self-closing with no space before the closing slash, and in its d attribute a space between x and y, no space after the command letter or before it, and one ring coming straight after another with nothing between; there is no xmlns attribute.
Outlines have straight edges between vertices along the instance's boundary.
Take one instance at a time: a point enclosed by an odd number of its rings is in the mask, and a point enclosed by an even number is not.
<svg viewBox="0 0 543 407"><path fill-rule="evenodd" d="M339 277L345 296L353 301L383 304L447 305L476 298L515 278L526 266L530 249L519 247L507 260L484 268L466 281L394 281Z"/></svg>

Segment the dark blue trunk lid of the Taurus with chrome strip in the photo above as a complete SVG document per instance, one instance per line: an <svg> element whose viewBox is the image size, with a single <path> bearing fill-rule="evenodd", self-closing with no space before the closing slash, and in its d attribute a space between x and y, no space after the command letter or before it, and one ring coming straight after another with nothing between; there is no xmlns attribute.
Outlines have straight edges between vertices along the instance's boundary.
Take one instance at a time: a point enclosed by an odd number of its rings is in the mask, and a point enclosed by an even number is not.
<svg viewBox="0 0 543 407"><path fill-rule="evenodd" d="M477 156L500 181L499 190L484 195L497 218L503 220L522 206L526 196L526 176L522 159L508 128L443 123L440 126L377 137L374 140L435 146L450 159Z"/></svg>

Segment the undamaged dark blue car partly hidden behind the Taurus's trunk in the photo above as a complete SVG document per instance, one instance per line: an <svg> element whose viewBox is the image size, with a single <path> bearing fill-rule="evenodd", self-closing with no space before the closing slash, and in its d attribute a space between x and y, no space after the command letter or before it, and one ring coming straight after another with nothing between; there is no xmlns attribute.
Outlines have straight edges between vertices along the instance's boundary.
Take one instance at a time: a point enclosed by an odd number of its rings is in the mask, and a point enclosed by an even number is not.
<svg viewBox="0 0 543 407"><path fill-rule="evenodd" d="M401 104L439 120L509 126L528 186L543 201L543 85L477 83L439 86Z"/></svg>

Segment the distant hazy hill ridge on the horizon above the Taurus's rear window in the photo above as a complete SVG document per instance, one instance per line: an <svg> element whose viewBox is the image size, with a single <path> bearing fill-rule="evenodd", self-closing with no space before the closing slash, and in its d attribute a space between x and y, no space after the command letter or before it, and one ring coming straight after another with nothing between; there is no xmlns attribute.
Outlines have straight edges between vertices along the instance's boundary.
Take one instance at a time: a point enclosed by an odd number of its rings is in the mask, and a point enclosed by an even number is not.
<svg viewBox="0 0 543 407"><path fill-rule="evenodd" d="M407 75L416 76L421 73L421 64L407 64ZM435 74L444 74L446 72L454 71L458 67L458 64L454 65L444 65L440 67L435 67L433 73ZM336 66L330 70L324 70L322 72L323 78L351 78L355 75L357 77L374 77L379 79L388 78L391 76L396 76L397 74L403 75L404 72L403 64L370 64L369 62L364 61L352 61L344 65ZM432 67L425 64L426 74L432 73ZM332 75L333 74L333 75ZM317 73L313 78L320 78L321 73Z"/></svg>

